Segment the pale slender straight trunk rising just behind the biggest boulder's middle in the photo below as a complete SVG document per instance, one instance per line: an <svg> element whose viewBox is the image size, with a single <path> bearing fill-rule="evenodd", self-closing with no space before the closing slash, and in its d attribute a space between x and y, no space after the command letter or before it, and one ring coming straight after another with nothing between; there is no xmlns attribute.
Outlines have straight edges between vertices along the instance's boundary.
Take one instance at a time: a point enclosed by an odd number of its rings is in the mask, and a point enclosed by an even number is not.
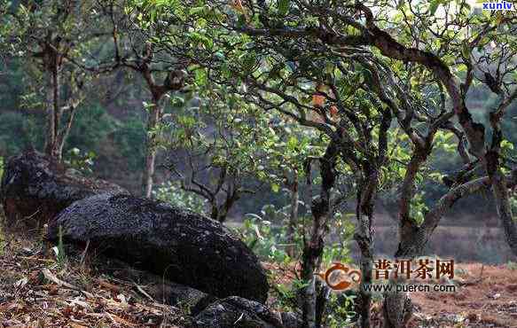
<svg viewBox="0 0 517 328"><path fill-rule="evenodd" d="M146 154L145 154L145 168L142 179L142 190L143 196L151 198L153 196L153 184L154 184L154 170L156 168L156 153L157 153L157 136L154 129L157 128L158 123L161 120L162 108L160 104L161 96L153 97L153 108L149 113L147 119L147 140L146 140Z"/></svg>

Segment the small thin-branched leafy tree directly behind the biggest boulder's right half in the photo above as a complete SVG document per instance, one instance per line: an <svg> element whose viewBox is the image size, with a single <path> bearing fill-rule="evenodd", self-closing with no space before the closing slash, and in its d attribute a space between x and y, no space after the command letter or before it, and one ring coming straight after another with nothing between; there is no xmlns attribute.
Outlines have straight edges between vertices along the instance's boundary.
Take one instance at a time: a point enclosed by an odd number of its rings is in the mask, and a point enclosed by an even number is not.
<svg viewBox="0 0 517 328"><path fill-rule="evenodd" d="M207 92L203 92L208 95ZM170 156L166 165L180 188L191 192L208 204L208 215L223 223L231 209L255 188L252 179L255 134L247 127L235 107L207 97L200 104L186 105L184 113L175 112L163 144Z"/></svg>

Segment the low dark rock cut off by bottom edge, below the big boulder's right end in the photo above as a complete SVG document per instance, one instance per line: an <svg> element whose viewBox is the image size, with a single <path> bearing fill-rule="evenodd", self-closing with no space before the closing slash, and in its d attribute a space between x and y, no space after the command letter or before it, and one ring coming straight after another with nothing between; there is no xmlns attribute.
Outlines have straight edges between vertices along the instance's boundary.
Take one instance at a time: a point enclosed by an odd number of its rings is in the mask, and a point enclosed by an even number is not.
<svg viewBox="0 0 517 328"><path fill-rule="evenodd" d="M194 317L197 328L284 328L281 317L256 301L229 297Z"/></svg>

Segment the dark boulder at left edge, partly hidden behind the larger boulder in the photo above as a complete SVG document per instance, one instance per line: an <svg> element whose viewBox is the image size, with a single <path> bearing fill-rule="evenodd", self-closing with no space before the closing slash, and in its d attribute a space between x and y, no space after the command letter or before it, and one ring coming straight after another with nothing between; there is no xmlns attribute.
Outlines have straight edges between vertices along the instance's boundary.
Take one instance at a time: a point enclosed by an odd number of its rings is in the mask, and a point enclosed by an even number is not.
<svg viewBox="0 0 517 328"><path fill-rule="evenodd" d="M74 174L40 152L27 151L7 161L0 200L8 228L40 228L75 200L106 191L129 194L116 184Z"/></svg>

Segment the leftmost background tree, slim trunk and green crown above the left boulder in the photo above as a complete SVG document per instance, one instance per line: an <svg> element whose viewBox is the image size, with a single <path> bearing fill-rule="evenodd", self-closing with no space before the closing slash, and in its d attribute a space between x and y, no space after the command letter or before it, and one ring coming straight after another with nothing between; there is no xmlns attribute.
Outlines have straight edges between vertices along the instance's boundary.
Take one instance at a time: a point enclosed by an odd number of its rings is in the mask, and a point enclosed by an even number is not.
<svg viewBox="0 0 517 328"><path fill-rule="evenodd" d="M95 5L53 0L0 4L4 7L4 51L26 65L32 82L26 86L31 91L25 95L25 103L45 108L45 152L58 161L91 77L75 63L92 59L98 38L104 35L91 14Z"/></svg>

